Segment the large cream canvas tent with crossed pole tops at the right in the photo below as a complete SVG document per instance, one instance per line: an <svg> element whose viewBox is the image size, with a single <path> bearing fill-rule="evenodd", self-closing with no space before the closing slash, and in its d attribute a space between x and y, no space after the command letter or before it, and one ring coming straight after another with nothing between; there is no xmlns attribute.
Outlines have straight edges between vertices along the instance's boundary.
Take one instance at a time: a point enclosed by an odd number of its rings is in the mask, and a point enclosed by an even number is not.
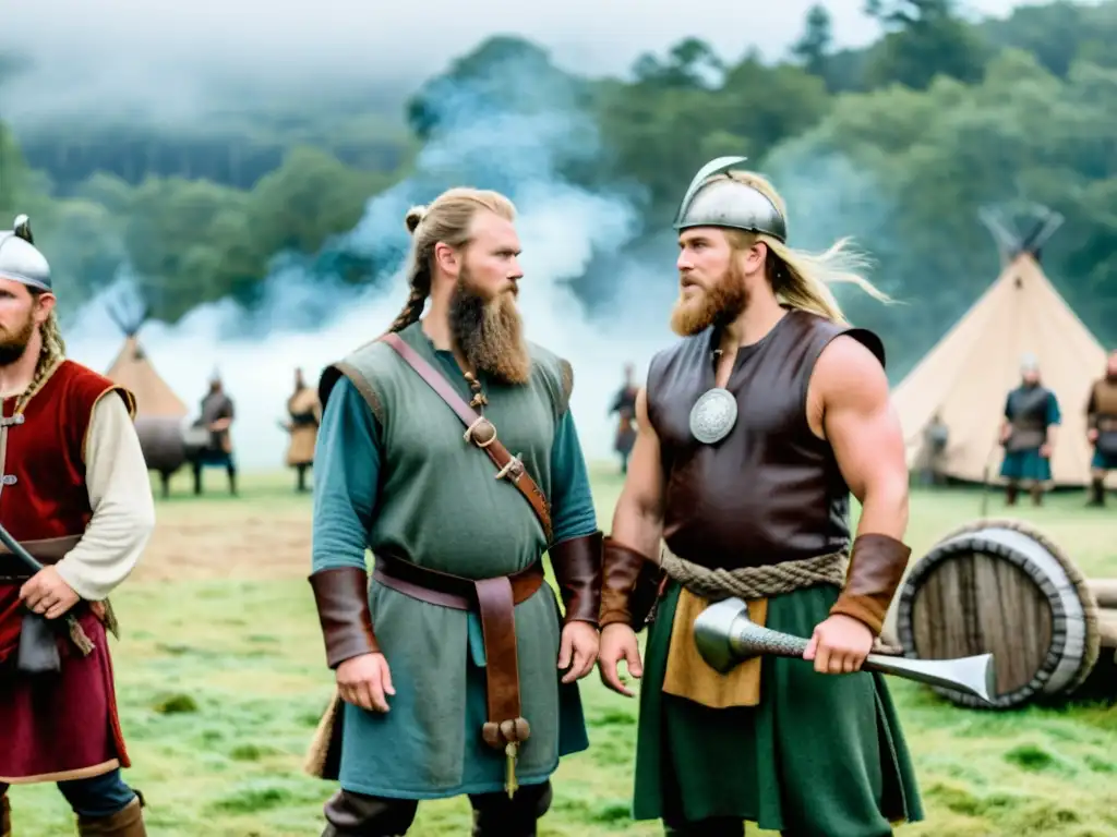
<svg viewBox="0 0 1117 837"><path fill-rule="evenodd" d="M1040 267L1039 247L1061 219L1048 218L1029 237L1013 237L984 220L1001 244L1001 275L892 394L908 468L925 461L926 431L937 415L947 432L939 473L965 482L982 482L987 474L999 482L1004 402L1020 383L1021 359L1031 354L1062 413L1051 458L1053 483L1086 487L1094 453L1086 439L1086 404L1105 371L1106 352Z"/></svg>

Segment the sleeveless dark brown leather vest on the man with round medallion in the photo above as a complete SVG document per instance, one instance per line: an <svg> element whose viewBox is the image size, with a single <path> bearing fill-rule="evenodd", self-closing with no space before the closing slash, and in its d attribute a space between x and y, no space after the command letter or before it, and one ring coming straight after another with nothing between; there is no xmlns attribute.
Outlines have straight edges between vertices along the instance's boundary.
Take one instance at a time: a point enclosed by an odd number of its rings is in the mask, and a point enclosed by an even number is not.
<svg viewBox="0 0 1117 837"><path fill-rule="evenodd" d="M667 483L663 539L681 558L733 569L799 560L844 548L849 488L828 442L811 432L806 388L822 349L838 335L876 335L792 310L758 343L737 350L726 388L737 422L703 444L690 408L715 385L713 328L657 354L648 371L648 417Z"/></svg>

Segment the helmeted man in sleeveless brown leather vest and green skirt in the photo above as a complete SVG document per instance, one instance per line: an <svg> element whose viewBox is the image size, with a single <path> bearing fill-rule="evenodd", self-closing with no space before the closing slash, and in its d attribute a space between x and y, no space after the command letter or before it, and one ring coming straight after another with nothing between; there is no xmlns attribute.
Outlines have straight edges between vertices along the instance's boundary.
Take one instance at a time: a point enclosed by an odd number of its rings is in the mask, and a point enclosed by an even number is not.
<svg viewBox="0 0 1117 837"><path fill-rule="evenodd" d="M743 162L707 164L676 219L682 339L652 358L637 401L599 665L623 694L619 662L642 675L637 819L704 837L739 837L745 821L886 835L923 811L887 685L858 670L910 554L908 473L881 343L844 321L828 286L882 295L843 242L791 249L782 199ZM804 660L709 667L694 622L731 595L753 620L811 637Z"/></svg>

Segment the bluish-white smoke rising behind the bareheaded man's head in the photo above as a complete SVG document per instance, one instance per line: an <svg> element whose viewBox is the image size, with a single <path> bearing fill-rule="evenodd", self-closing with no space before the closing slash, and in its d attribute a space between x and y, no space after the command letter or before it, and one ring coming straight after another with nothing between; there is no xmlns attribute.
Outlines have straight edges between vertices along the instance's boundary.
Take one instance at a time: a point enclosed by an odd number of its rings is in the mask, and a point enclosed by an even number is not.
<svg viewBox="0 0 1117 837"><path fill-rule="evenodd" d="M623 365L633 363L642 379L653 352L672 339L674 263L626 258L641 232L637 205L627 195L591 192L560 173L570 161L602 153L592 121L569 104L572 97L554 89L556 76L540 80L538 74L517 71L514 64L454 86L442 84L430 103L437 133L413 175L373 196L356 227L315 258L278 254L252 310L222 300L198 306L174 325L152 321L141 330L149 359L191 407L191 419L211 374L219 371L236 404L232 439L244 470L281 466L286 434L277 422L286 415L294 369L302 367L309 382L316 381L323 366L381 334L399 312L408 295L401 272L410 241L404 213L454 185L497 189L516 203L525 271L519 305L528 338L573 365L572 410L588 459L612 455L614 419L608 411L622 384ZM507 109L505 99L494 95L494 79L536 86L527 90L529 96L519 89L518 100L567 106L526 114ZM354 289L330 270L346 257L389 267ZM588 316L566 285L595 258L620 266L612 281L613 296L622 300L598 319ZM131 285L122 273L116 286L67 324L71 358L108 368L122 341L109 305Z"/></svg>

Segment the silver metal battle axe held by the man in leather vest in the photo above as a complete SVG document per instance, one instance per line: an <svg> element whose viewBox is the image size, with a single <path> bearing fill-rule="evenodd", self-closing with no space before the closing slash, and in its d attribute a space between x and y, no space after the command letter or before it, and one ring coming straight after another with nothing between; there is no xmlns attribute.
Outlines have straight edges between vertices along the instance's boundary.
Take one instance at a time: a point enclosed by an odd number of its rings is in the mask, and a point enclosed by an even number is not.
<svg viewBox="0 0 1117 837"><path fill-rule="evenodd" d="M727 598L710 605L695 619L698 653L714 671L726 674L745 660L760 654L802 657L809 639L757 625L748 618L748 605ZM910 660L889 654L869 654L861 671L895 674L972 694L992 704L993 655L978 654L956 660Z"/></svg>

